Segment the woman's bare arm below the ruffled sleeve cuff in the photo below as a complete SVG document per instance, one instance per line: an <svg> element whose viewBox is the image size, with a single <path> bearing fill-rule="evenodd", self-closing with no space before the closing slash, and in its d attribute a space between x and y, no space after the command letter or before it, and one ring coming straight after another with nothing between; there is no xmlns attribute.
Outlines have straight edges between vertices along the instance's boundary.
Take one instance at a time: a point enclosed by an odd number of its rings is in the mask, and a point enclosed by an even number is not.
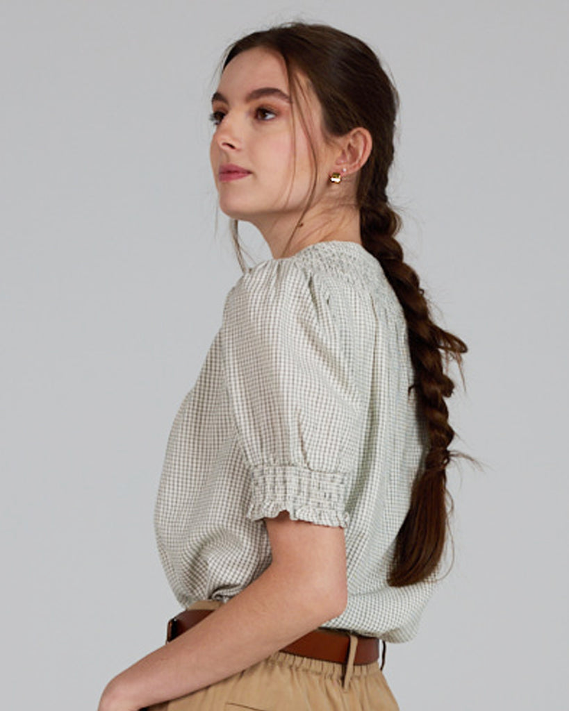
<svg viewBox="0 0 569 711"><path fill-rule="evenodd" d="M344 529L265 518L271 565L196 626L117 675L99 711L137 711L256 664L341 614L346 606Z"/></svg>

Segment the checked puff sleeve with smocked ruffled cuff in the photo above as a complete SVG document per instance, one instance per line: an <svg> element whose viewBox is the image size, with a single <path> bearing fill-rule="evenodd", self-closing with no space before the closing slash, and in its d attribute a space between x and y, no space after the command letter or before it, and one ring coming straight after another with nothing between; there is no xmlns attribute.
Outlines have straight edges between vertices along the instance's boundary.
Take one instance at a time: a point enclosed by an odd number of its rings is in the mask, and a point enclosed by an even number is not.
<svg viewBox="0 0 569 711"><path fill-rule="evenodd" d="M292 260L257 264L230 290L221 348L250 475L247 517L346 528L361 395L323 274Z"/></svg>

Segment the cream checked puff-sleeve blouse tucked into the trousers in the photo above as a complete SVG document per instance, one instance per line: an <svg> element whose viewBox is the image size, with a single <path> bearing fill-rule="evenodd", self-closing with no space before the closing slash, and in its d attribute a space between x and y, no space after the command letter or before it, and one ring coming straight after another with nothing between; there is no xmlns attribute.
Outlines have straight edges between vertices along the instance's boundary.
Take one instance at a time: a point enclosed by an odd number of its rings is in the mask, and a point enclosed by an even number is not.
<svg viewBox="0 0 569 711"><path fill-rule="evenodd" d="M263 517L345 529L349 599L324 627L413 638L434 583L386 583L426 454L403 310L356 242L251 267L168 440L154 523L178 602L227 602L271 562Z"/></svg>

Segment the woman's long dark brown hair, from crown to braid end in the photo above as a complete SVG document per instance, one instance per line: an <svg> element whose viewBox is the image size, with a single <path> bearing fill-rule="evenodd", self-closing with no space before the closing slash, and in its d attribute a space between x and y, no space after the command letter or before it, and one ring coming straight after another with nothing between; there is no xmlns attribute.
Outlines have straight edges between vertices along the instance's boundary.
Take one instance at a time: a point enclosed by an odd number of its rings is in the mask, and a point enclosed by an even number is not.
<svg viewBox="0 0 569 711"><path fill-rule="evenodd" d="M467 346L432 321L419 277L403 261L403 249L395 240L402 221L388 201L386 188L394 154L398 93L371 48L327 25L292 22L251 33L228 48L222 67L239 53L256 47L282 55L293 99L300 90L297 73L308 78L322 107L325 132L342 136L353 128L365 127L373 139L371 155L361 168L356 191L361 241L381 262L403 307L415 371L410 389L415 387L418 414L429 435L424 467L415 476L410 508L395 540L388 583L401 587L420 582L436 572L445 550L447 499L450 501L447 466L452 456L471 460L472 457L449 449L454 430L448 421L445 397L452 395L454 383L445 373L447 368L442 359L444 353L447 367L450 358L457 360L462 375L462 353L467 352ZM302 119L302 111L299 115ZM314 184L315 181L314 177ZM304 213L311 198L312 193ZM245 271L236 220L232 220L232 235L240 266Z"/></svg>

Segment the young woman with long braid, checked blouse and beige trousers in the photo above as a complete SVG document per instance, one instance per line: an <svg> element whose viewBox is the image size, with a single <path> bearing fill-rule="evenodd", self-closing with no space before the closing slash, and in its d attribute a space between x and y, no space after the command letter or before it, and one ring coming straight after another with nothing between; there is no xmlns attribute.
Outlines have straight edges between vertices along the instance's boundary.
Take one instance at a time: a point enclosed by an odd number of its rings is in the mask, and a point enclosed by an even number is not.
<svg viewBox="0 0 569 711"><path fill-rule="evenodd" d="M386 642L415 636L445 545L454 436L436 326L386 188L397 95L329 26L235 43L211 166L243 269L171 429L156 535L169 642L100 711L394 710ZM237 220L272 259L245 267ZM381 654L380 654L380 644Z"/></svg>

